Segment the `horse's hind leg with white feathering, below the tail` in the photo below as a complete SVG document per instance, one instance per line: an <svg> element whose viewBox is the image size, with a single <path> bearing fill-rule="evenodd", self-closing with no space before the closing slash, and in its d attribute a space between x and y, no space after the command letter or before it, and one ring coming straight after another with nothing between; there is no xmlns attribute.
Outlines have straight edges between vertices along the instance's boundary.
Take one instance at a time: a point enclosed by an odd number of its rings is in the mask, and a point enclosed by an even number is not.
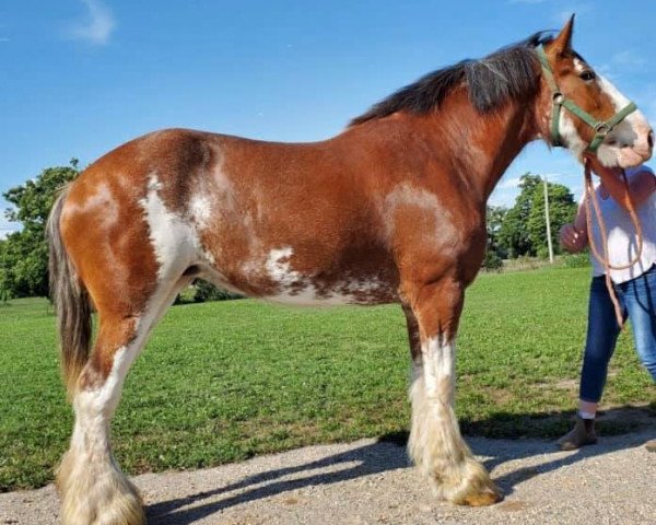
<svg viewBox="0 0 656 525"><path fill-rule="evenodd" d="M109 422L128 369L149 332L190 278L159 290L139 315L98 308L93 353L73 393L75 425L57 472L66 525L141 525L145 515L136 488L120 471L109 443Z"/></svg>

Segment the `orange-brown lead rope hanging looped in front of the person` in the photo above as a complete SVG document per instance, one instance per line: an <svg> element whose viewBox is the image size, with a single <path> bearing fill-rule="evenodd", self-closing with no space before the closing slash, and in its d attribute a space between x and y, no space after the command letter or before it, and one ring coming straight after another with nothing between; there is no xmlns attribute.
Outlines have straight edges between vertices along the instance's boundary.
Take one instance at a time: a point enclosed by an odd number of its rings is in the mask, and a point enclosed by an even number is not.
<svg viewBox="0 0 656 525"><path fill-rule="evenodd" d="M635 208L633 206L633 201L631 200L631 191L629 190L629 180L626 179L626 173L622 170L622 179L624 180L624 188L626 190L626 203L629 207L629 215L631 217L631 222L633 223L633 228L635 228L635 235L637 238L637 253L633 260L626 265L613 266L610 264L608 257L608 234L606 232L606 224L604 223L604 218L601 217L601 210L599 209L599 201L597 200L597 192L593 186L593 177L590 175L590 164L587 159L584 161L585 165L585 217L586 217L586 225L587 225L587 234L588 234L588 245L590 246L590 250L593 252L594 257L604 265L605 276L606 276L606 288L608 289L608 293L610 295L610 300L612 301L612 305L614 306L616 317L618 319L618 326L620 328L624 328L624 318L622 315L622 308L620 307L620 302L618 301L617 293L614 291L614 287L612 285L612 280L610 279L610 270L625 270L626 268L631 268L635 265L640 258L642 257L643 250L643 233L642 226L640 225L640 220L637 219L637 214L635 213ZM604 255L599 254L597 246L595 244L595 237L593 235L593 211L590 209L590 201L595 208L595 215L597 217L597 223L599 224L599 232L601 233L601 247L604 248Z"/></svg>

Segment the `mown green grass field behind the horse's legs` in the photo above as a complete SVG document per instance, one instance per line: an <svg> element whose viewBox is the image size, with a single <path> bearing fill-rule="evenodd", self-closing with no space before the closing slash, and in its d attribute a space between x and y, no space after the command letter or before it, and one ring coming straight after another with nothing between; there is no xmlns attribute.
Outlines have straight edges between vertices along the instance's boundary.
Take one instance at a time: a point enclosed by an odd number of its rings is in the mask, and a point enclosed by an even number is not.
<svg viewBox="0 0 656 525"><path fill-rule="evenodd" d="M552 438L569 427L588 269L483 275L458 339L464 431ZM45 300L0 306L0 491L52 479L72 417ZM175 306L130 372L113 424L130 474L408 428L408 348L398 306L294 310L255 301ZM620 338L605 405L656 415L656 389ZM630 427L630 425L629 425ZM619 421L607 432L628 430Z"/></svg>

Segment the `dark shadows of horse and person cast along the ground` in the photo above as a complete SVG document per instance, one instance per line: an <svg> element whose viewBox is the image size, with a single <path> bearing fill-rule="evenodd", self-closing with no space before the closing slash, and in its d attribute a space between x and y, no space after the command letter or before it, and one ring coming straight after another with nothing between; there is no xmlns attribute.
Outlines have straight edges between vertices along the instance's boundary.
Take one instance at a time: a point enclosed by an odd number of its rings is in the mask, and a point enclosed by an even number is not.
<svg viewBox="0 0 656 525"><path fill-rule="evenodd" d="M475 454L488 457L483 463L488 469L493 469L508 460L557 453L552 438L569 430L572 418L572 412L549 413L542 417L500 412L484 421L461 421L461 425L468 434L478 434L477 438L468 440L470 446ZM652 405L646 408L619 407L607 410L600 416L599 428L601 435L607 436L628 431L640 431L640 435L629 434L622 439L601 439L595 446L584 447L565 456L562 454L558 454L553 458L547 456L547 462L538 466L522 467L501 477L493 476L494 481L507 495L513 493L516 485L537 475L557 470L585 458L637 446L645 440L645 435L649 439L656 438L656 407ZM499 441L481 438L481 435L503 435L515 440ZM541 440L524 439L527 435L541 438ZM547 439L549 441L546 441ZM192 524L242 503L307 487L332 485L363 476L407 468L409 467L405 448L407 440L407 432L387 434L382 436L377 443L342 454L256 474L213 490L155 503L148 508L149 522L162 525ZM344 465L344 468L336 470L340 465ZM317 469L328 467L332 470L316 472ZM298 477L303 472L307 472L307 476ZM284 479L292 475L295 475L296 479ZM224 497L216 501L216 497L222 494ZM202 504L204 500L210 499L212 501ZM188 509L189 505L195 506Z"/></svg>

